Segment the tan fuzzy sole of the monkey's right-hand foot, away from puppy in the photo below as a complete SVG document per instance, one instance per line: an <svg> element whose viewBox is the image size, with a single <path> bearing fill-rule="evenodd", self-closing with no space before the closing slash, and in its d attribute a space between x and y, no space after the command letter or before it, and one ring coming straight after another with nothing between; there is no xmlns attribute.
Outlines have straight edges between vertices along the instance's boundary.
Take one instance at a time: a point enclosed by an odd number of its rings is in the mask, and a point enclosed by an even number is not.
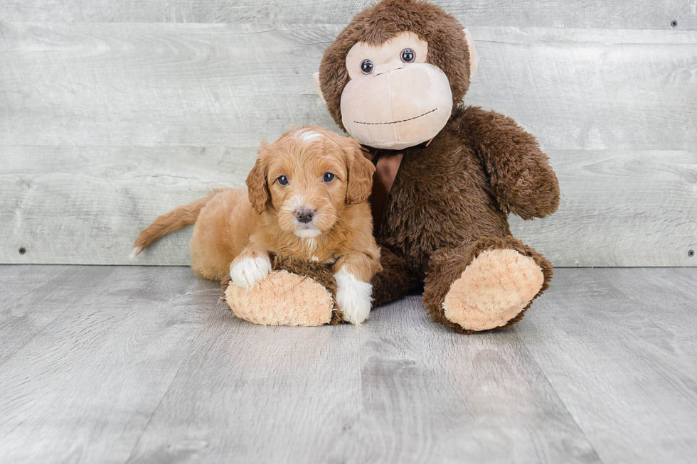
<svg viewBox="0 0 697 464"><path fill-rule="evenodd" d="M501 327L528 306L543 282L531 257L512 249L486 250L450 286L445 317L467 330Z"/></svg>

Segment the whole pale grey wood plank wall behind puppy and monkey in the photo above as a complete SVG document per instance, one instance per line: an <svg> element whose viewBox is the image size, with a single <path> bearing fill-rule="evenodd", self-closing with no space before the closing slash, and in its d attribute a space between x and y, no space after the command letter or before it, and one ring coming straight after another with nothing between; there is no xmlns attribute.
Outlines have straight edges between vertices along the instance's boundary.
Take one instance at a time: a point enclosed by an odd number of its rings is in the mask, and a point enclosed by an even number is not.
<svg viewBox="0 0 697 464"><path fill-rule="evenodd" d="M477 41L465 102L518 120L560 178L560 210L514 233L557 266L697 266L693 2L440 3ZM338 130L312 72L366 4L1 4L0 262L187 264L188 230L127 255L243 185L260 140Z"/></svg>

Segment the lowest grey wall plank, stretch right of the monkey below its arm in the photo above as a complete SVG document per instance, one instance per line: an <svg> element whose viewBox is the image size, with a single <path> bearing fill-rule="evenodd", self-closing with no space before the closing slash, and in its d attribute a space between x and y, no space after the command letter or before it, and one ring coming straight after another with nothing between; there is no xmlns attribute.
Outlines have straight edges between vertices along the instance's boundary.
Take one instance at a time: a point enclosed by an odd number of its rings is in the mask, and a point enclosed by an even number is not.
<svg viewBox="0 0 697 464"><path fill-rule="evenodd" d="M514 235L555 266L697 266L697 152L548 151L559 210L511 215Z"/></svg>

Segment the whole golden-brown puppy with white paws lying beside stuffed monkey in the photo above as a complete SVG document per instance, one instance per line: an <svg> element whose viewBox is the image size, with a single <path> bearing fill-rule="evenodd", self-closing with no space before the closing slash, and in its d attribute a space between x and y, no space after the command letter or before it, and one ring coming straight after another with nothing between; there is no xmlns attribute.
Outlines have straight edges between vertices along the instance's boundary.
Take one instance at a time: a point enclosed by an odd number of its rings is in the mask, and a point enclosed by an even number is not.
<svg viewBox="0 0 697 464"><path fill-rule="evenodd" d="M344 320L371 308L380 266L367 200L375 168L355 140L315 126L262 143L248 190L216 190L158 217L140 233L139 254L159 237L194 224L191 266L205 279L252 289L271 271L270 253L331 264Z"/></svg>

